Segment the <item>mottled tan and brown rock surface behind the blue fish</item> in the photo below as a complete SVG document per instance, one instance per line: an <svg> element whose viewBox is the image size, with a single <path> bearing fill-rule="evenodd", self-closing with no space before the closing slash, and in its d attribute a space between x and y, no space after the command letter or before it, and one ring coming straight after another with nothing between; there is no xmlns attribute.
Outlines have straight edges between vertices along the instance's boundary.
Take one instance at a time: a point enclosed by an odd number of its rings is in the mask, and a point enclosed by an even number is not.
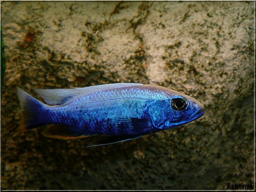
<svg viewBox="0 0 256 192"><path fill-rule="evenodd" d="M2 2L2 189L254 184L253 2ZM201 101L190 124L108 146L18 132L16 86L158 84ZM254 187L254 186L253 186Z"/></svg>

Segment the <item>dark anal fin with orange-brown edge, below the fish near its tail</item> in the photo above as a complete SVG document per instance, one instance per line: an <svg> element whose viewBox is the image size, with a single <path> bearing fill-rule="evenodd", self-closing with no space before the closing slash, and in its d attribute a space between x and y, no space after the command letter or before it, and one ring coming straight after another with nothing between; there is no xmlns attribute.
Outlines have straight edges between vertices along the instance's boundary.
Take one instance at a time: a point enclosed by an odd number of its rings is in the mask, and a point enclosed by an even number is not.
<svg viewBox="0 0 256 192"><path fill-rule="evenodd" d="M48 125L47 128L44 129L42 134L45 137L51 137L51 138L62 139L62 140L77 139L77 138L92 136L92 135L84 135L83 132L81 132L80 130L74 127L69 127L67 125L59 125L59 124Z"/></svg>

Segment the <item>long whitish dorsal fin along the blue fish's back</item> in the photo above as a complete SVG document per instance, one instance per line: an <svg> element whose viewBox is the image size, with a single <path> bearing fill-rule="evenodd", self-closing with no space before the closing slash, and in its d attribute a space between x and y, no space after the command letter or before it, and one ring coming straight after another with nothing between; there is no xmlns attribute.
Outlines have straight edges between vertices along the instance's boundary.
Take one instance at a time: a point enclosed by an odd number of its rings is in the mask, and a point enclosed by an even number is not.
<svg viewBox="0 0 256 192"><path fill-rule="evenodd" d="M143 85L139 83L113 83L94 85L89 87L77 87L71 89L35 89L48 105L61 105L69 100L89 93L129 86Z"/></svg>

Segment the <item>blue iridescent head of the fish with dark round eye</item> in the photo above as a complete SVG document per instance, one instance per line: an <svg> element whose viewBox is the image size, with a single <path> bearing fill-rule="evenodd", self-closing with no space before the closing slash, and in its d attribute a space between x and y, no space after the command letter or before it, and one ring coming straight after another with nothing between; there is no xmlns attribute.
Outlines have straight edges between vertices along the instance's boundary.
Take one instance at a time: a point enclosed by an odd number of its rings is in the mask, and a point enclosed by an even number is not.
<svg viewBox="0 0 256 192"><path fill-rule="evenodd" d="M158 100L148 108L154 127L170 129L194 121L205 113L204 106L185 94L172 94L168 99Z"/></svg>

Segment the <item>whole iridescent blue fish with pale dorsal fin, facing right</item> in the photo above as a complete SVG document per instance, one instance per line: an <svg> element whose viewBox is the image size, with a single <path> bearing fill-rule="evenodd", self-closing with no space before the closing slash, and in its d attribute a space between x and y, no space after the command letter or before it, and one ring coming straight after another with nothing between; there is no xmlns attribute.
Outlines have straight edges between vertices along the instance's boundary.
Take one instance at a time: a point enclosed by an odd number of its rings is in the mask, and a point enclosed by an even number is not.
<svg viewBox="0 0 256 192"><path fill-rule="evenodd" d="M17 87L20 132L48 125L46 137L101 135L87 147L131 140L187 124L204 115L196 99L162 86L115 83L72 89L36 89L46 104Z"/></svg>

